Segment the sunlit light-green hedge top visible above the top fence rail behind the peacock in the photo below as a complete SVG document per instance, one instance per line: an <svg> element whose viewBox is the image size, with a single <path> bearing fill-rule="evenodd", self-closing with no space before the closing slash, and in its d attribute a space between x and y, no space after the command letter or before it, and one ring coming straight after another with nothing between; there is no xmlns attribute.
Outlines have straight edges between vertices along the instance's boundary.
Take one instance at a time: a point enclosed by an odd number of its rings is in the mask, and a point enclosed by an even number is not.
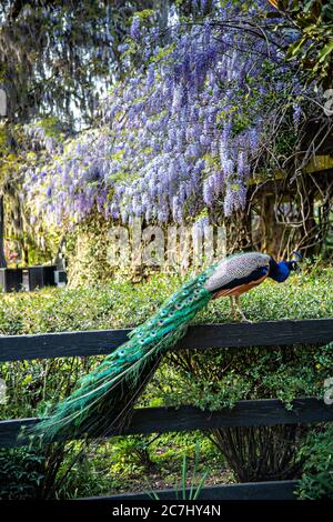
<svg viewBox="0 0 333 522"><path fill-rule="evenodd" d="M91 287L84 288L46 288L3 294L0 332L21 334L135 327L154 313L184 280L174 273L157 273L137 284L119 277L103 285L91 281ZM331 268L310 263L283 284L265 281L242 297L242 305L252 321L330 318L333 315L332 284ZM194 321L219 323L231 319L229 300L220 299L210 302Z"/></svg>

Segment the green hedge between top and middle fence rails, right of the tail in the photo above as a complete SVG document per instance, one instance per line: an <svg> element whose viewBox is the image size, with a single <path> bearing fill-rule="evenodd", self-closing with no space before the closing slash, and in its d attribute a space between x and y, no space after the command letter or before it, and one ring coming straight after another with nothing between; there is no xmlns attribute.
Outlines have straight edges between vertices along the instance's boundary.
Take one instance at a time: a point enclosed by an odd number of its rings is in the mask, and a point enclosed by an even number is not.
<svg viewBox="0 0 333 522"><path fill-rule="evenodd" d="M172 364L178 371L170 370ZM160 395L168 405L202 410L232 408L244 399L278 398L292 408L296 396L323 396L332 375L332 347L211 350L169 355ZM159 378L157 374L155 379Z"/></svg>

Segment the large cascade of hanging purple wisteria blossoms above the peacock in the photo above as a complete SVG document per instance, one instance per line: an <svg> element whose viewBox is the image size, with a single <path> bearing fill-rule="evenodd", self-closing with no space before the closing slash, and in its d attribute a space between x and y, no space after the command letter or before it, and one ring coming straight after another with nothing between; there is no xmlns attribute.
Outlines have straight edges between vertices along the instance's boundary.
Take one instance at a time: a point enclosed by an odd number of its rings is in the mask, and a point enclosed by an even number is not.
<svg viewBox="0 0 333 522"><path fill-rule="evenodd" d="M157 31L134 17L122 51L125 60L144 49L143 66L114 86L94 129L63 150L48 140L48 161L26 178L34 212L57 224L94 210L123 223L181 223L243 209L276 99L289 92L295 126L301 118L302 84L255 14L249 22L229 4L173 20L157 46Z"/></svg>

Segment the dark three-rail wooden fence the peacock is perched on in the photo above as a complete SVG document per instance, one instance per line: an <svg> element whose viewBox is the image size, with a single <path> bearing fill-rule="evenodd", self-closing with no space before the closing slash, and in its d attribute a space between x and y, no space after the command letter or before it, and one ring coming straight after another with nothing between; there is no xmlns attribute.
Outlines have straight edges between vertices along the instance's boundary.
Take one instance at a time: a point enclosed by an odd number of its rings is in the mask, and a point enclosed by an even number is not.
<svg viewBox="0 0 333 522"><path fill-rule="evenodd" d="M37 335L0 335L0 361L22 361L75 355L108 354L127 341L129 330L48 333ZM285 347L294 344L324 344L333 340L333 319L261 322L253 324L212 324L190 327L188 334L175 347L208 350L211 348L242 349L245 347ZM333 421L333 405L311 396L297 398L292 410L276 399L239 401L233 409L204 412L183 405L173 408L135 409L130 425L122 434L165 433L172 431L211 430L226 426L274 424L310 424ZM21 428L38 419L13 419L0 422L0 448L23 445L18 441ZM117 434L114 431L110 433ZM201 499L292 499L294 481L258 482L204 488ZM173 491L159 492L159 498L171 499ZM129 493L89 500L140 500L147 493Z"/></svg>

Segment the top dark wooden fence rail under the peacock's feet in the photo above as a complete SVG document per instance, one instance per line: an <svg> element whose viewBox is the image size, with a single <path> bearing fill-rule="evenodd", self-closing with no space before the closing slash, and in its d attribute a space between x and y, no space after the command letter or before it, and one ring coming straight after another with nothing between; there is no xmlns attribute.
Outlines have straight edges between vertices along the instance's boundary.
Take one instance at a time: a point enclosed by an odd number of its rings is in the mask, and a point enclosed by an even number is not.
<svg viewBox="0 0 333 522"><path fill-rule="evenodd" d="M0 335L0 361L99 355L128 340L130 330ZM333 319L202 324L189 328L180 349L276 347L333 340Z"/></svg>

